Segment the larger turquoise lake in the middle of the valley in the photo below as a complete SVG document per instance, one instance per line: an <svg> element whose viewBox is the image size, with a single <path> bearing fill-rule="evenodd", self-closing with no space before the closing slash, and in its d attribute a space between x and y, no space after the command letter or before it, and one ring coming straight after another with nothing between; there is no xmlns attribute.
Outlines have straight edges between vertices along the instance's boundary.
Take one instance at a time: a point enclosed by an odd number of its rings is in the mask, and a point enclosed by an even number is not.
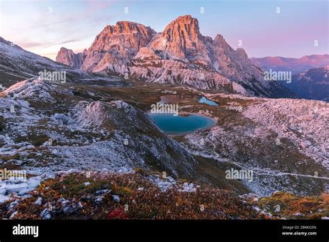
<svg viewBox="0 0 329 242"><path fill-rule="evenodd" d="M215 120L201 115L178 115L149 113L155 124L168 135L185 135L198 129L208 129L216 124Z"/></svg>

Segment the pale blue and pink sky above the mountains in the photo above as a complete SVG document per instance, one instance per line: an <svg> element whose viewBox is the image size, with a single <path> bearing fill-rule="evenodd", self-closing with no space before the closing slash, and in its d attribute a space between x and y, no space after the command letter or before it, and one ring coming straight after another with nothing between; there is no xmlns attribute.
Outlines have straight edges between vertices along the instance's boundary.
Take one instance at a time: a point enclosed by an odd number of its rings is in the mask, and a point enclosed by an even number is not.
<svg viewBox="0 0 329 242"><path fill-rule="evenodd" d="M107 25L138 22L161 32L180 15L223 35L249 57L328 54L328 0L0 0L0 36L55 60L60 47L90 47Z"/></svg>

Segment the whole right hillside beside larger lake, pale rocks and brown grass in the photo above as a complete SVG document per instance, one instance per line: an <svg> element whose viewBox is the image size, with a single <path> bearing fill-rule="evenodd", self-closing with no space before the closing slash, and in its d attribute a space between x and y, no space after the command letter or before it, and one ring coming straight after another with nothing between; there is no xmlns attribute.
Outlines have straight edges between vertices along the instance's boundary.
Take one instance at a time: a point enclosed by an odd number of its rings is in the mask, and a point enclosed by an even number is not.
<svg viewBox="0 0 329 242"><path fill-rule="evenodd" d="M207 97L221 105L199 113L217 118L219 124L185 136L189 152L225 164L225 169L252 170L253 181L242 182L258 195L274 191L314 195L329 190L326 102Z"/></svg>

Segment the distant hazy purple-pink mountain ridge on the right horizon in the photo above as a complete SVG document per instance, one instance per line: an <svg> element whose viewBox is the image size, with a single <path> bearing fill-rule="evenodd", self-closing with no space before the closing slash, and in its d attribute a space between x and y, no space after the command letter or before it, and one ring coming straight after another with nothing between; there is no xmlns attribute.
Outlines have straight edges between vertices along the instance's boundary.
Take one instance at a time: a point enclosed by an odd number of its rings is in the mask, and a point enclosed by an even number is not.
<svg viewBox="0 0 329 242"><path fill-rule="evenodd" d="M267 56L263 58L251 58L251 62L264 70L292 71L293 74L305 70L329 65L329 55L312 55L301 58L286 58L280 56Z"/></svg>

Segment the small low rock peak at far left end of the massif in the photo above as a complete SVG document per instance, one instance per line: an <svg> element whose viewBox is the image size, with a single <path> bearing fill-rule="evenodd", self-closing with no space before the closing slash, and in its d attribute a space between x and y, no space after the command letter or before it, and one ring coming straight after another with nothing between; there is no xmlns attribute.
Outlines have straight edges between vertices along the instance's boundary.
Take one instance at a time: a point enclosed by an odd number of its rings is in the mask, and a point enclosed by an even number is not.
<svg viewBox="0 0 329 242"><path fill-rule="evenodd" d="M85 61L86 51L87 50L83 51L83 53L74 54L71 49L62 47L56 56L56 61L71 67L80 68L83 61Z"/></svg>

